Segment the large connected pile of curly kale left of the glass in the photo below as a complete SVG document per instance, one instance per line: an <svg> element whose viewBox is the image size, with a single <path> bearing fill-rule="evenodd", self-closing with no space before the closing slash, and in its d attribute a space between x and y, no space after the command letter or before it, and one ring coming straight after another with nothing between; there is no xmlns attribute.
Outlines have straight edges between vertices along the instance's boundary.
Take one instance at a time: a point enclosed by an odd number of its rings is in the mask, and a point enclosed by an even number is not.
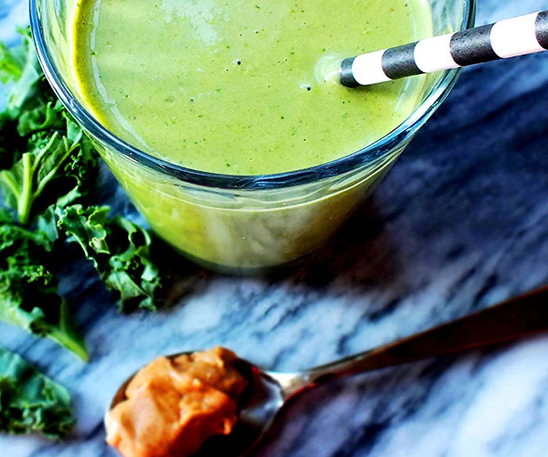
<svg viewBox="0 0 548 457"><path fill-rule="evenodd" d="M108 219L108 206L86 206L97 153L40 69L29 29L21 46L0 44L0 80L8 103L0 112L0 320L47 336L87 357L84 341L57 292L54 259L78 243L121 310L154 310L160 273L147 230Z"/></svg>

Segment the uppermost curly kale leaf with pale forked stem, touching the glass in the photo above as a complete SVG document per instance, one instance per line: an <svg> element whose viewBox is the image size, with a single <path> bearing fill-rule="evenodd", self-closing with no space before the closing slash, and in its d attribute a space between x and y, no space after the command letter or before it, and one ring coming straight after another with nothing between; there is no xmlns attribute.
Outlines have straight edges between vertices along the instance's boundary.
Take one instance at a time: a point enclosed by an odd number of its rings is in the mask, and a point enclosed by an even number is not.
<svg viewBox="0 0 548 457"><path fill-rule="evenodd" d="M20 47L0 46L0 79L12 82L0 113L0 187L25 225L46 188L62 206L82 197L97 156L47 85L29 30L21 35Z"/></svg>

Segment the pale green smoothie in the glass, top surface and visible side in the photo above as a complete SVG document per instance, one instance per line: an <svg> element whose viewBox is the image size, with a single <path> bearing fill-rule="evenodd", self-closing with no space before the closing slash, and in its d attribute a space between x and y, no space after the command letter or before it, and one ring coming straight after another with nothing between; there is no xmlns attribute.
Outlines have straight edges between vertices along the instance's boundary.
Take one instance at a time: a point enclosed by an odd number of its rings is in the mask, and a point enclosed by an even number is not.
<svg viewBox="0 0 548 457"><path fill-rule="evenodd" d="M128 143L200 171L261 175L342 158L397 127L428 90L425 77L349 89L334 74L343 58L432 36L426 0L79 0L72 17L80 101ZM229 271L325 243L405 146L263 190L190 184L97 141L155 232Z"/></svg>

